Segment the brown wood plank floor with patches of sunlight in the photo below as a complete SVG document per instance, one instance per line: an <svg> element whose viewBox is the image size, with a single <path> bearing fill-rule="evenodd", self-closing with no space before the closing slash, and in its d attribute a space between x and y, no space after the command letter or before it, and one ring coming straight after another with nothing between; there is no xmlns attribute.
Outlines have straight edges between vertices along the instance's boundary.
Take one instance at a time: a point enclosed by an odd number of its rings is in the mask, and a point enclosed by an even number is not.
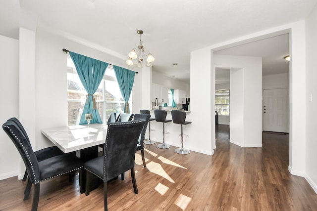
<svg viewBox="0 0 317 211"><path fill-rule="evenodd" d="M288 134L263 133L263 147L241 148L229 143L228 127L219 125L213 156L146 145L146 169L136 155L139 194L126 172L124 181L119 177L108 183L108 209L316 211L317 194L305 178L288 171L288 139ZM1 211L31 209L33 192L23 201L25 185L17 177L0 181ZM41 183L39 211L99 211L103 205L102 185L89 196L80 194L78 175L72 182L60 176Z"/></svg>

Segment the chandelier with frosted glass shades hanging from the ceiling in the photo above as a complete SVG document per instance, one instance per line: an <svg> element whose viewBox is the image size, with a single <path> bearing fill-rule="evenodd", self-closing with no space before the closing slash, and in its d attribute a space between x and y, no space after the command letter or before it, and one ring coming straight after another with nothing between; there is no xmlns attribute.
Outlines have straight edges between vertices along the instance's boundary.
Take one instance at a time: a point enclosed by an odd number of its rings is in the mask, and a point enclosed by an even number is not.
<svg viewBox="0 0 317 211"><path fill-rule="evenodd" d="M146 64L146 66L147 67L152 67L151 62L154 62L155 58L152 56L152 54L148 50L145 51L145 52L149 52L148 54L144 53L143 41L141 41L141 35L143 34L143 31L142 30L138 30L137 33L140 35L140 44L138 45L138 49L137 48L133 48L130 51L130 53L128 54L129 58L128 58L128 60L125 61L125 63L127 65L132 66L134 64L132 59L138 58L137 66L138 67L143 67L142 66L143 56L147 56L147 64Z"/></svg>

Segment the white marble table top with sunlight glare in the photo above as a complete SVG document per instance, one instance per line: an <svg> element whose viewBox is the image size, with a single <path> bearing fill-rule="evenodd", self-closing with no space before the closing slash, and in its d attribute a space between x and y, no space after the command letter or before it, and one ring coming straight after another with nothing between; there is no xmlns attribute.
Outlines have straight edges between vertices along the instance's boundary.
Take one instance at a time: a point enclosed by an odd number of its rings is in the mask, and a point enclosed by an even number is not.
<svg viewBox="0 0 317 211"><path fill-rule="evenodd" d="M54 127L42 129L41 132L61 151L68 153L105 143L107 125Z"/></svg>

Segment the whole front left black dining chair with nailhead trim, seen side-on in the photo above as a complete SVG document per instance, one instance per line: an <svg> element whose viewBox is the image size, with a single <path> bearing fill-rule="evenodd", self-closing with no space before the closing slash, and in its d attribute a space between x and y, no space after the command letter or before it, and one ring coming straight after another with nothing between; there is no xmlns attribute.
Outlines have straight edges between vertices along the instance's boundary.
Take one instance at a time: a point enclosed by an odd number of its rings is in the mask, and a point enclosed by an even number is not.
<svg viewBox="0 0 317 211"><path fill-rule="evenodd" d="M83 167L83 162L73 153L57 155L42 161L38 161L32 146L20 127L12 120L2 125L3 130L10 137L11 141L20 153L28 172L28 184L34 184L33 204L31 211L36 211L40 198L40 182L53 177L72 172ZM82 189L82 176L79 173L80 192ZM31 190L27 188L27 190ZM30 192L25 193L24 200L28 199Z"/></svg>

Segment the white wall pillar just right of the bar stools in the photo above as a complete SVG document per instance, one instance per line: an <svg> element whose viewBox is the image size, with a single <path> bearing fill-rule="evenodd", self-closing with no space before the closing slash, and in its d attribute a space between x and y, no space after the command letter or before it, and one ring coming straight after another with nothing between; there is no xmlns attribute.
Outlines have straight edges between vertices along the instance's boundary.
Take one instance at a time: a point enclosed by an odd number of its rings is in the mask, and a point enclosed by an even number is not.
<svg viewBox="0 0 317 211"><path fill-rule="evenodd" d="M214 74L211 74L211 49L190 54L190 118L192 136L198 152L212 155L215 148Z"/></svg>

